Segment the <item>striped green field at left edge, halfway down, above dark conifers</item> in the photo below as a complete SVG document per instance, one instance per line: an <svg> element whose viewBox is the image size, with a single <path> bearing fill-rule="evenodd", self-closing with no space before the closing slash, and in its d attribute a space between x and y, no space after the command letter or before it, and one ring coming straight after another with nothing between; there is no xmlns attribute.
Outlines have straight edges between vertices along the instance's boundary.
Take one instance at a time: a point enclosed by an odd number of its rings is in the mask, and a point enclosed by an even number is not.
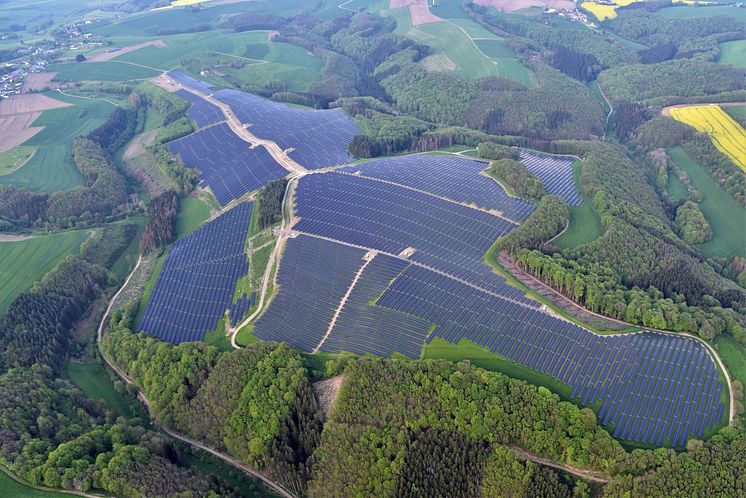
<svg viewBox="0 0 746 498"><path fill-rule="evenodd" d="M69 254L77 254L90 231L39 235L19 242L0 242L0 313L20 293Z"/></svg>

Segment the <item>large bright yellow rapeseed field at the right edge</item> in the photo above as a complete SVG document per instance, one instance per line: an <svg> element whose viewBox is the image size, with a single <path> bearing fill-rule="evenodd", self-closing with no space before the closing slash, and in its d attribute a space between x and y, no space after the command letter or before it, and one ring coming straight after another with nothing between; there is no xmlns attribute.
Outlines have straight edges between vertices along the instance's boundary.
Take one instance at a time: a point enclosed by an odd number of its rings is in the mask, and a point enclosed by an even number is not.
<svg viewBox="0 0 746 498"><path fill-rule="evenodd" d="M671 117L710 135L712 143L746 171L746 130L716 105L674 107Z"/></svg>

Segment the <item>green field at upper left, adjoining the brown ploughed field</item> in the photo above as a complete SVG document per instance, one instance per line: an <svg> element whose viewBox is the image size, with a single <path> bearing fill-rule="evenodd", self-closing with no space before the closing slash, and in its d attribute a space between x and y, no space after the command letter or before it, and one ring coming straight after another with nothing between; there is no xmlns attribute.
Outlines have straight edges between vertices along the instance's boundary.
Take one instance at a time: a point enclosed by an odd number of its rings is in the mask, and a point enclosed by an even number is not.
<svg viewBox="0 0 746 498"><path fill-rule="evenodd" d="M73 104L44 111L33 126L44 126L23 145L36 147L31 159L13 173L0 176L0 183L36 192L58 192L83 184L83 177L72 159L72 144L106 121L114 106L103 100L67 97L57 92L45 94Z"/></svg>

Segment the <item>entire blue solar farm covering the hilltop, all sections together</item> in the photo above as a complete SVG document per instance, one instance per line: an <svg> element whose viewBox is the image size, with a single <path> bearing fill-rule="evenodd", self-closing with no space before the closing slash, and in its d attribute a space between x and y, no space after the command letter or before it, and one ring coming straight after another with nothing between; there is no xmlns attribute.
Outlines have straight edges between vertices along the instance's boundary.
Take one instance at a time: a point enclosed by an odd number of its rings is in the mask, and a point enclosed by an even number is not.
<svg viewBox="0 0 746 498"><path fill-rule="evenodd" d="M701 342L648 331L595 334L492 271L485 254L535 204L506 193L485 174L487 163L415 154L343 166L357 129L341 111L291 109L233 90L213 95L307 169L341 167L290 175L291 225L277 232L281 252L265 304L256 290L232 301L249 267L252 204L239 204L174 244L141 330L170 342L201 340L221 317L235 327L260 303L254 336L308 353L419 358L436 338L471 341L565 384L578 403L600 406L600 420L620 439L680 446L720 424L724 385ZM200 129L169 147L221 204L288 174L269 149L233 133L220 109L183 96ZM526 150L521 160L549 193L581 203L572 160Z"/></svg>

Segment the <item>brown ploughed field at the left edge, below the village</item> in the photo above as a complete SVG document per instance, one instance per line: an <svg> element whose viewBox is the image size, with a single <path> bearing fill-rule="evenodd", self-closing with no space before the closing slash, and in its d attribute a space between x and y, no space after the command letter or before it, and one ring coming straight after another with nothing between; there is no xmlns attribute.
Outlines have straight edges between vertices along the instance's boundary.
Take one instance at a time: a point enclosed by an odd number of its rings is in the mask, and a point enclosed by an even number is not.
<svg viewBox="0 0 746 498"><path fill-rule="evenodd" d="M45 95L25 93L0 100L0 152L21 145L43 126L31 126L42 111L70 104Z"/></svg>

